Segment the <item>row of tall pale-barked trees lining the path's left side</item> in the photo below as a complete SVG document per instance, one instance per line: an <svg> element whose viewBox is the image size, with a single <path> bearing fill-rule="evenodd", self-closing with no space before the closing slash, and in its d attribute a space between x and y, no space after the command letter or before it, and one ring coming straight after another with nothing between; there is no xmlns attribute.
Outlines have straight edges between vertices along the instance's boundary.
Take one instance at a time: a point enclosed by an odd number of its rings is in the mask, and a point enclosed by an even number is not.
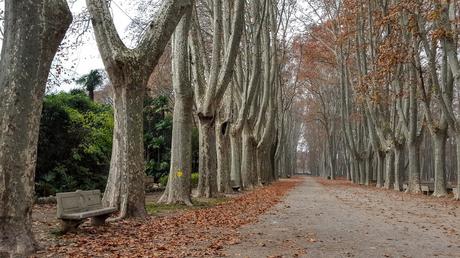
<svg viewBox="0 0 460 258"><path fill-rule="evenodd" d="M171 165L160 201L191 202L191 133L199 129L198 196L251 189L295 171L299 119L289 77L292 1L166 0L134 48L121 40L109 2L87 0L113 87L114 130L103 203L144 217L143 107L149 77L172 35ZM71 24L65 0L5 1L0 60L0 256L36 248L31 232L43 95Z"/></svg>

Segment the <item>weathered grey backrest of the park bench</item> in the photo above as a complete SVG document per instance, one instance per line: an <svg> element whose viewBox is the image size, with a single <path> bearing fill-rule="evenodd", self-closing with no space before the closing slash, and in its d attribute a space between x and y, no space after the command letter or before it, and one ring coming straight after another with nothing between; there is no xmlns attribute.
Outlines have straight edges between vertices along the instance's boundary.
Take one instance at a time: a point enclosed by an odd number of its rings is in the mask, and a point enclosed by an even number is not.
<svg viewBox="0 0 460 258"><path fill-rule="evenodd" d="M102 208L101 191L57 193L57 217L62 214L92 211Z"/></svg>

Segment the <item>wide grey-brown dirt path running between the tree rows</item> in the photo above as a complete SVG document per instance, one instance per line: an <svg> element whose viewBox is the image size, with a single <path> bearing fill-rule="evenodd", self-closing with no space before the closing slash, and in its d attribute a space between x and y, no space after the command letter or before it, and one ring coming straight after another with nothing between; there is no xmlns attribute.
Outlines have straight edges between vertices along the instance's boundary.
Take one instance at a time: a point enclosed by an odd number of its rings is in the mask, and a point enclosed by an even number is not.
<svg viewBox="0 0 460 258"><path fill-rule="evenodd" d="M313 177L256 224L229 257L460 257L460 205Z"/></svg>

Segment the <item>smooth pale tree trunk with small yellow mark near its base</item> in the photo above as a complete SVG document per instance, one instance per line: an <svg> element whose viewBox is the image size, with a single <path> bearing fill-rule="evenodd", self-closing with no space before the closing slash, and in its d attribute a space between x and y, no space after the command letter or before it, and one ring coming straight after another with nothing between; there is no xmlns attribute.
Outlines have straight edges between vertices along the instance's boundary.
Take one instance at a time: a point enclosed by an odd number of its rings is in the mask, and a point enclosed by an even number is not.
<svg viewBox="0 0 460 258"><path fill-rule="evenodd" d="M171 166L168 184L160 203L192 205L192 129L193 91L190 85L188 32L191 10L188 10L173 34L172 69L174 114L171 141Z"/></svg>

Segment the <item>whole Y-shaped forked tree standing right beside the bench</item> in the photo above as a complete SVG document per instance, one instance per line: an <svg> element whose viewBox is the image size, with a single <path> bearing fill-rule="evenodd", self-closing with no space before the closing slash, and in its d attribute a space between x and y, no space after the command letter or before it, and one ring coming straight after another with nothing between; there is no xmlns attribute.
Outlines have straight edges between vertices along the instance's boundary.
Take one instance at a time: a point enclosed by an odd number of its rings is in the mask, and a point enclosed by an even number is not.
<svg viewBox="0 0 460 258"><path fill-rule="evenodd" d="M112 159L103 203L119 207L120 218L144 217L147 214L142 116L145 88L177 23L190 8L190 1L165 1L134 49L121 41L106 1L86 3L114 92Z"/></svg>

